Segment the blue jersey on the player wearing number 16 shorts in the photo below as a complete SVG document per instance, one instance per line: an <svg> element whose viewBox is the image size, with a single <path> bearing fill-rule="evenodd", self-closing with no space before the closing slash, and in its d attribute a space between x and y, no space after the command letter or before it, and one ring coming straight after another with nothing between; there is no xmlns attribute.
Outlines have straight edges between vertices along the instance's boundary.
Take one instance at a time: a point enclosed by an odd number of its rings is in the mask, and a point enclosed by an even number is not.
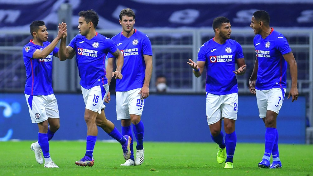
<svg viewBox="0 0 313 176"><path fill-rule="evenodd" d="M85 89L108 83L105 77L105 57L117 50L114 42L99 33L88 40L81 34L76 35L69 46L76 52L76 63L80 85Z"/></svg>

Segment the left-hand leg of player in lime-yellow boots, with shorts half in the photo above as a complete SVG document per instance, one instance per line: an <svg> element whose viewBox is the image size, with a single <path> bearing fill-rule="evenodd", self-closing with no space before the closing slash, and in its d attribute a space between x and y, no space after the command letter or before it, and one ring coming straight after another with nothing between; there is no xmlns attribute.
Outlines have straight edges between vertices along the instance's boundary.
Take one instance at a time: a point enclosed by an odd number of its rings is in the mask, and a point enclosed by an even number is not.
<svg viewBox="0 0 313 176"><path fill-rule="evenodd" d="M222 128L221 98L218 95L207 93L206 113L207 122L210 128L211 138L218 144L216 159L218 163L223 163L226 159L226 145Z"/></svg>

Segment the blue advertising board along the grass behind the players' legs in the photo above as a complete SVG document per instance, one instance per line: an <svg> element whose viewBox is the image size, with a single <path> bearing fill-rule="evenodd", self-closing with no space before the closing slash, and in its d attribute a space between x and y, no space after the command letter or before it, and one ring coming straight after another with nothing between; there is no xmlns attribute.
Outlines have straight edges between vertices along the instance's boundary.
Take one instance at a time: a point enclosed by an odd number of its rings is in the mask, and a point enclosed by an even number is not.
<svg viewBox="0 0 313 176"><path fill-rule="evenodd" d="M81 94L55 94L60 113L60 128L54 140L85 140L85 104ZM105 115L121 131L116 120L115 95L105 103ZM255 96L239 95L236 121L238 142L263 143L265 127L259 118ZM151 94L141 117L145 141L213 142L206 120L204 95ZM305 143L305 98L291 103L285 98L277 118L280 143ZM98 140L112 140L98 128ZM0 141L37 140L38 125L31 123L23 93L0 94Z"/></svg>

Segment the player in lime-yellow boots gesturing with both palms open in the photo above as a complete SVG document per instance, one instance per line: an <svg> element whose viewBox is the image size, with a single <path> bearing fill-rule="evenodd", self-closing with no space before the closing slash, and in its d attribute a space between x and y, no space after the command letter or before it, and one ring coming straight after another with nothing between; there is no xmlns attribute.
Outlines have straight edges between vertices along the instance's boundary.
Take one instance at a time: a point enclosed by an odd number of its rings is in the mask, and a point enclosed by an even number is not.
<svg viewBox="0 0 313 176"><path fill-rule="evenodd" d="M218 163L225 161L224 168L233 168L233 155L237 143L236 75L243 75L246 72L246 65L240 44L230 39L232 30L228 18L215 18L213 30L215 36L200 47L197 63L191 59L187 63L193 68L193 74L197 78L203 73L204 67L206 68L206 114L211 137L218 144L217 161ZM221 131L223 119L225 140Z"/></svg>

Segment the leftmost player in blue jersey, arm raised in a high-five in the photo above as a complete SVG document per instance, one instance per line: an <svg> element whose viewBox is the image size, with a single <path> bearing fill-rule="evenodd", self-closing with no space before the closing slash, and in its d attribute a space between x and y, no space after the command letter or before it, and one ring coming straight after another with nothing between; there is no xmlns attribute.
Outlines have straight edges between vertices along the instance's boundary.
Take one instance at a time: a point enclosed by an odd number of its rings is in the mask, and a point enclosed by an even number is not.
<svg viewBox="0 0 313 176"><path fill-rule="evenodd" d="M33 39L23 47L26 69L25 98L32 123L38 124L38 141L30 149L39 164L46 168L59 168L49 154L49 140L60 127L57 99L52 89L52 58L59 57L56 45L66 33L66 24L59 24L56 38L48 42L48 31L43 21L33 21L30 26ZM41 156L44 155L44 160Z"/></svg>

